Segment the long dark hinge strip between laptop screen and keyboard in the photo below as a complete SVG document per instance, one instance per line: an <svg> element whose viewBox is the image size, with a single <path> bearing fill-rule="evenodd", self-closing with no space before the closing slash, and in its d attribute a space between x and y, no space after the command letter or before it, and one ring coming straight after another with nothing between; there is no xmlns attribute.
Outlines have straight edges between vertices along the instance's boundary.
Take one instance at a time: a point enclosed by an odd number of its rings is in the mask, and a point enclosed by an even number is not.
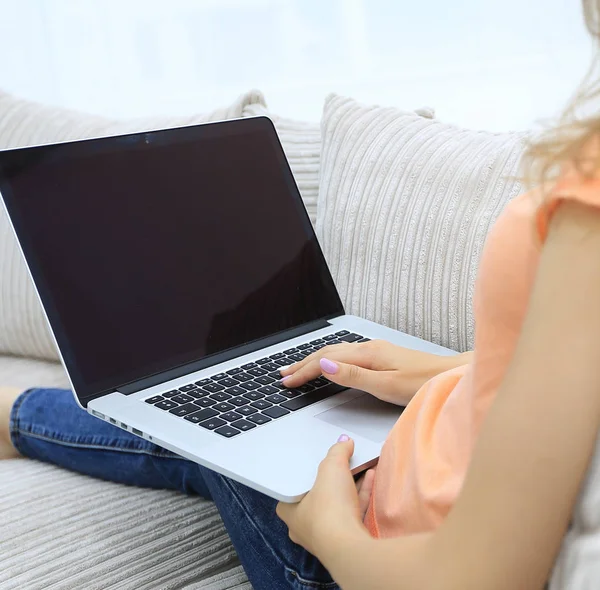
<svg viewBox="0 0 600 590"><path fill-rule="evenodd" d="M201 371L207 367L219 365L236 357L244 356L246 354L250 354L251 352L256 352L257 350L267 348L268 346L280 344L286 340L291 340L292 338L297 338L298 336L326 328L329 325L330 324L327 319L310 322L309 324L304 324L298 328L292 328L291 330L286 330L285 332L280 332L279 334L268 336L267 338L261 338L260 340L255 340L254 342L244 344L243 346L236 346L235 348L211 355L203 358L202 360L186 363L185 365L181 365L167 371L162 371L161 373L156 373L150 377L145 377L144 379L139 379L138 381L121 385L120 387L117 387L117 391L125 395L131 395L132 393L137 393L138 391L148 389L154 385L159 385L165 381L171 381L172 379L183 377L189 373L195 373L196 371Z"/></svg>

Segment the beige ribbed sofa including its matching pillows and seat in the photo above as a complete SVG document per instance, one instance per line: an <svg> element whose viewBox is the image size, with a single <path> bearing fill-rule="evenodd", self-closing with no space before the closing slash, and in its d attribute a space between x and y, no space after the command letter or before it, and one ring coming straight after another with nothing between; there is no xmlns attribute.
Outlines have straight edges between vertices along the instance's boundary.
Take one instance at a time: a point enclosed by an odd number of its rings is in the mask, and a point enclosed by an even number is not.
<svg viewBox="0 0 600 590"><path fill-rule="evenodd" d="M115 121L0 92L0 149L268 116L348 313L457 351L487 232L522 190L526 133L493 134L330 95L321 123L271 113L261 92L194 117ZM81 198L85 198L82 194ZM67 387L4 211L0 384ZM247 589L212 503L26 459L0 462L0 588Z"/></svg>

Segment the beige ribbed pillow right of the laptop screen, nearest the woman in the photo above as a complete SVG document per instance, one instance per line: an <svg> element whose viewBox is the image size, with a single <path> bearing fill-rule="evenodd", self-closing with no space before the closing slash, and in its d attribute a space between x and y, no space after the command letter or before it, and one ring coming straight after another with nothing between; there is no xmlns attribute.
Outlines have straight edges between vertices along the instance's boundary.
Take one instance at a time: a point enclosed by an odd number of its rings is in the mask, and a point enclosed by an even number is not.
<svg viewBox="0 0 600 590"><path fill-rule="evenodd" d="M525 134L331 95L322 137L317 235L347 313L471 349L481 251L521 192Z"/></svg>

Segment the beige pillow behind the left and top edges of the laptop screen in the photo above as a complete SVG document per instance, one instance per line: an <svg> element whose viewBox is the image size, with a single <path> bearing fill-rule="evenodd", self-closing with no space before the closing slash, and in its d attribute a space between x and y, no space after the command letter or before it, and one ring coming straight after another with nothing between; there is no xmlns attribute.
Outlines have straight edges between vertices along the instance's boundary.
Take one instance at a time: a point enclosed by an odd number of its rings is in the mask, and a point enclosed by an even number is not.
<svg viewBox="0 0 600 590"><path fill-rule="evenodd" d="M46 107L0 92L0 149L239 118L244 108L254 103L264 105L264 97L258 91L248 92L231 106L209 114L114 121ZM58 358L1 205L0 353L53 360Z"/></svg>

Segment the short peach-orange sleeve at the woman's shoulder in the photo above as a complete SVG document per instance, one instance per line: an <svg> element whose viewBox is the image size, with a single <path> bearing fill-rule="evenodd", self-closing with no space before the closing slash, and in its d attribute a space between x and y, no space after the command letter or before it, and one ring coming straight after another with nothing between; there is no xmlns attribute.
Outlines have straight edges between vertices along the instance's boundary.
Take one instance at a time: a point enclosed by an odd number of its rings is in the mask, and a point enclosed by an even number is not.
<svg viewBox="0 0 600 590"><path fill-rule="evenodd" d="M558 180L536 212L537 232L542 242L548 235L552 216L561 203L569 200L600 209L600 178L582 179L580 175L567 174Z"/></svg>

